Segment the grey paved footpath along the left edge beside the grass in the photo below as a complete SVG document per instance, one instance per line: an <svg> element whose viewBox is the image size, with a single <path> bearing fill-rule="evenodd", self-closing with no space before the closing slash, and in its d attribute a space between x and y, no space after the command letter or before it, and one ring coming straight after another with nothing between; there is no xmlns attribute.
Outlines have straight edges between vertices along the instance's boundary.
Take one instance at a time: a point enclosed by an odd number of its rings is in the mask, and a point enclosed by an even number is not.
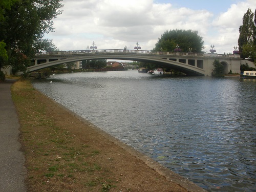
<svg viewBox="0 0 256 192"><path fill-rule="evenodd" d="M19 122L11 97L15 80L0 82L0 191L26 191L25 157L20 151Z"/></svg>

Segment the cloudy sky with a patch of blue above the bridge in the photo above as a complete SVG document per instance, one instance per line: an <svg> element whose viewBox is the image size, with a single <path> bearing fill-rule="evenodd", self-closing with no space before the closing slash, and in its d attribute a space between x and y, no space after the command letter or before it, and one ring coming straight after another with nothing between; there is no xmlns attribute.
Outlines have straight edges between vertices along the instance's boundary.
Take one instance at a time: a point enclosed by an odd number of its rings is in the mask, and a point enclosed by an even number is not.
<svg viewBox="0 0 256 192"><path fill-rule="evenodd" d="M231 53L238 46L239 26L255 0L63 0L63 13L54 19L55 32L46 35L59 50L142 50L155 47L166 30L195 30L209 53ZM181 48L182 49L182 48Z"/></svg>

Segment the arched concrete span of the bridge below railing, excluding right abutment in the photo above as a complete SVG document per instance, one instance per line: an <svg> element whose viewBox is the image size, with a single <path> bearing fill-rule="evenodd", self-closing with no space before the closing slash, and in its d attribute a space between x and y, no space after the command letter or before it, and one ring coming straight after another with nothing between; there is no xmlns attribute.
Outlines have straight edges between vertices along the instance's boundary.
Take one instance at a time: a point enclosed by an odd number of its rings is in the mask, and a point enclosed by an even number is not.
<svg viewBox="0 0 256 192"><path fill-rule="evenodd" d="M139 55L131 53L110 54L83 54L83 55L53 55L51 57L42 55L34 58L34 65L28 67L27 72L33 72L43 68L60 65L63 63L92 60L92 59L118 59L118 60L133 60L140 62L150 62L167 69L174 69L191 76L204 76L203 58L195 59L189 57L170 57L166 55Z"/></svg>

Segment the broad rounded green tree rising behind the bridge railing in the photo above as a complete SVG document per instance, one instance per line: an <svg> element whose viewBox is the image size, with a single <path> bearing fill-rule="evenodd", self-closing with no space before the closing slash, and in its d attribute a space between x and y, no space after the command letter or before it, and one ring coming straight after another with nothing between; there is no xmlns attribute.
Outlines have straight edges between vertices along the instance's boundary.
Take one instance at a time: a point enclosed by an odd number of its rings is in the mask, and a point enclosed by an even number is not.
<svg viewBox="0 0 256 192"><path fill-rule="evenodd" d="M202 53L204 49L203 38L198 35L197 31L176 29L165 31L161 38L158 38L154 50L174 51L177 45L183 52L192 49L193 52Z"/></svg>

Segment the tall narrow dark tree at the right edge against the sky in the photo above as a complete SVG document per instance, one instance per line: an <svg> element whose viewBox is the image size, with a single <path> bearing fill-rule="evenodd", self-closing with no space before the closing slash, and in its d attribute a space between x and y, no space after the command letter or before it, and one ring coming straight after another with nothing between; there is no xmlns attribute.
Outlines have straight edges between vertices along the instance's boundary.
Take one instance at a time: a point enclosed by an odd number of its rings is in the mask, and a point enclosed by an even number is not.
<svg viewBox="0 0 256 192"><path fill-rule="evenodd" d="M255 10L256 13L256 10ZM238 46L239 52L241 53L241 58L251 58L256 59L256 27L255 27L255 16L253 20L253 12L249 8L243 17L243 25L239 27L239 39Z"/></svg>

